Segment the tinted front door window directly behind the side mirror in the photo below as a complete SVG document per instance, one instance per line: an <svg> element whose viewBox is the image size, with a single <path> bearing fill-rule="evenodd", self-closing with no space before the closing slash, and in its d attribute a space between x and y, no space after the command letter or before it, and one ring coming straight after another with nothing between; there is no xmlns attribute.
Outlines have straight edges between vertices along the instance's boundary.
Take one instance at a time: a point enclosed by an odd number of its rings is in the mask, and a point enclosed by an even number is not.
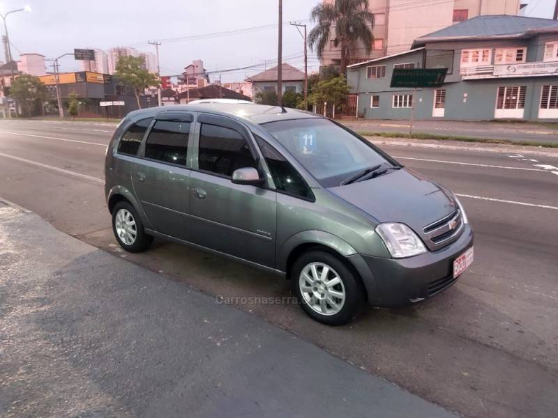
<svg viewBox="0 0 558 418"><path fill-rule="evenodd" d="M199 132L199 169L221 176L243 167L257 168L246 140L235 130L202 123Z"/></svg>

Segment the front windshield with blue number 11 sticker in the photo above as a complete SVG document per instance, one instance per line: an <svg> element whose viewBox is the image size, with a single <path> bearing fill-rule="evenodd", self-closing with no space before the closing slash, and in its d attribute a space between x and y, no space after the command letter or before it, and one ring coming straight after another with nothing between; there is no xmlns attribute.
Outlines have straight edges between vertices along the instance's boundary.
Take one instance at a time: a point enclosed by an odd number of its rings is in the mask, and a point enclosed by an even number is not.
<svg viewBox="0 0 558 418"><path fill-rule="evenodd" d="M321 118L262 124L324 187L334 187L359 171L396 164L335 123Z"/></svg>

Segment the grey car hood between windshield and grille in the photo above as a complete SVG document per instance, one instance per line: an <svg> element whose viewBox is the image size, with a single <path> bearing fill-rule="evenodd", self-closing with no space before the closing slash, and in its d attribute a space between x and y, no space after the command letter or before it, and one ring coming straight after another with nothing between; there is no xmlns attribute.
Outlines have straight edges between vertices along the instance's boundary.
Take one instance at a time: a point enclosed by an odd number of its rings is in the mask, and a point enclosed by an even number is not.
<svg viewBox="0 0 558 418"><path fill-rule="evenodd" d="M419 234L457 207L451 192L409 169L329 190L378 222L401 222Z"/></svg>

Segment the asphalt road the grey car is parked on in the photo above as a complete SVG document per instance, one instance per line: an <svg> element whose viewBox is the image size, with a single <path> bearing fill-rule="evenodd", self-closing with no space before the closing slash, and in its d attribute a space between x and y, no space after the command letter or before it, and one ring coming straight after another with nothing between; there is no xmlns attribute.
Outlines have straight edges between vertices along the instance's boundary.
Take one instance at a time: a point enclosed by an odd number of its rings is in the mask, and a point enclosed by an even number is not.
<svg viewBox="0 0 558 418"><path fill-rule="evenodd" d="M112 129L1 122L0 196L63 232L209 295L289 295L282 279L166 242L144 254L124 254L110 231L103 198L103 160ZM356 323L337 328L313 322L295 305L235 301L465 417L555 417L558 174L553 171L558 169L550 167L558 167L558 157L384 149L462 196L476 241L475 262L460 281L414 307L368 309Z"/></svg>

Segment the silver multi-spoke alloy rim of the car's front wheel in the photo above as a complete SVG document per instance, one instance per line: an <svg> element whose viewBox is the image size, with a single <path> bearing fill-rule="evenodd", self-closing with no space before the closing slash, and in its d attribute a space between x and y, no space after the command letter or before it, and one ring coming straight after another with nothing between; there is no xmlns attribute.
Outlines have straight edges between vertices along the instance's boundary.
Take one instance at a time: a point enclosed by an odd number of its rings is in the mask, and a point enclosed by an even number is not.
<svg viewBox="0 0 558 418"><path fill-rule="evenodd" d="M338 314L345 304L345 285L327 264L307 264L299 276L299 288L304 302L320 315Z"/></svg>

